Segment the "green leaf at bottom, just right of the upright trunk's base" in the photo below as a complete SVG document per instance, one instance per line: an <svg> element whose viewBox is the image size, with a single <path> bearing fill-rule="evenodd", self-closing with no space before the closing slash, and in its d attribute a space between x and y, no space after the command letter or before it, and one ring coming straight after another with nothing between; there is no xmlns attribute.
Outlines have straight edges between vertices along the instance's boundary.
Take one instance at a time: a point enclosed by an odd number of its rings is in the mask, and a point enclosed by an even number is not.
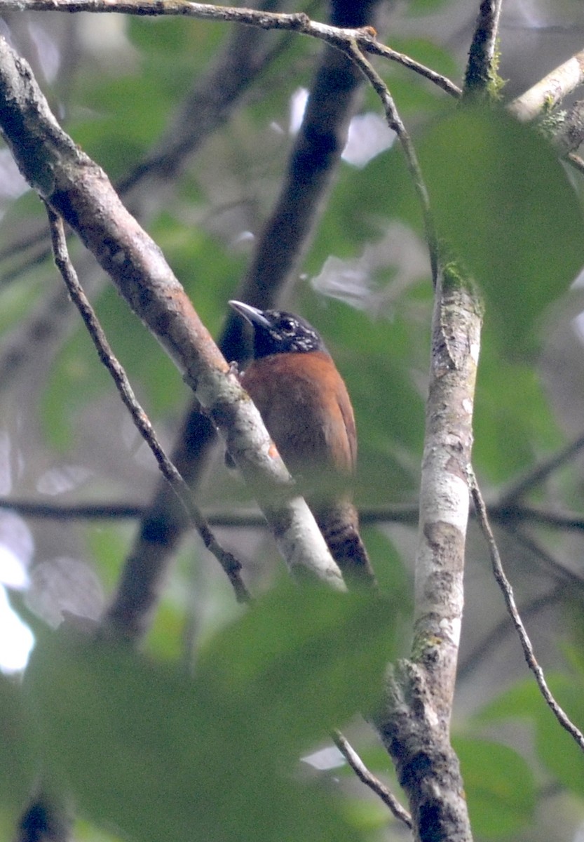
<svg viewBox="0 0 584 842"><path fill-rule="evenodd" d="M536 781L528 763L501 743L453 738L475 834L500 839L534 819Z"/></svg>

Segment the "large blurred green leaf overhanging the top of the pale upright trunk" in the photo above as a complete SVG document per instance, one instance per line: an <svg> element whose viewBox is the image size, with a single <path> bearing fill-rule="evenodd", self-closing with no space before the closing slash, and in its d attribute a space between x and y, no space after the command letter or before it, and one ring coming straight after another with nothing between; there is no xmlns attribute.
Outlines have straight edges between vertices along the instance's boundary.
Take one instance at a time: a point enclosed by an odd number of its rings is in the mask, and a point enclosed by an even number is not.
<svg viewBox="0 0 584 842"><path fill-rule="evenodd" d="M492 109L459 109L419 153L438 231L486 298L486 328L507 354L533 353L545 308L584 265L581 207L557 155Z"/></svg>

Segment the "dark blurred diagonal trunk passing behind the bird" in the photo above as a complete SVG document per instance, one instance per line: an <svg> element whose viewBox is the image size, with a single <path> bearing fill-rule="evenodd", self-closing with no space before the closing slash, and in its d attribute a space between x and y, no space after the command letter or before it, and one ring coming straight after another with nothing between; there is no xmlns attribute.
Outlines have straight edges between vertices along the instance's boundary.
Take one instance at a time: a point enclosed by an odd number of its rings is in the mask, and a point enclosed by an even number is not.
<svg viewBox="0 0 584 842"><path fill-rule="evenodd" d="M361 0L352 3L347 11L342 3L334 2L332 20L337 24L363 24L370 19L376 4L377 0ZM247 30L244 34L249 35ZM279 197L257 237L252 261L236 294L241 301L262 309L275 306L297 271L321 214L323 200L332 186L361 83L362 76L353 62L342 52L326 46L312 79L308 105ZM246 358L243 320L233 311L227 317L219 346L227 360L241 363ZM173 451L173 460L189 484L198 481L214 443L215 432L209 419L194 404L188 410ZM158 527L161 522L162 536ZM185 528L182 509L161 483L126 558L111 610L115 610L116 602L125 600L126 592L131 593L137 576L145 578L145 570L151 590L156 593ZM146 567L145 558L149 560ZM127 614L130 606L125 601Z"/></svg>

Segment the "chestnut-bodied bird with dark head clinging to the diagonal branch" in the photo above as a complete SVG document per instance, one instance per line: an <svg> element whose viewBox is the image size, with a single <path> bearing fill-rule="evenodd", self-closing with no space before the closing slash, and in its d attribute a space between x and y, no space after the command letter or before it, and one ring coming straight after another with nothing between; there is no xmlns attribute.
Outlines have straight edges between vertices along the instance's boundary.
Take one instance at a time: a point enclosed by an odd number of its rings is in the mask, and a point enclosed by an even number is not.
<svg viewBox="0 0 584 842"><path fill-rule="evenodd" d="M229 303L253 329L253 359L240 377L243 388L348 586L375 588L351 493L357 461L353 405L331 354L300 316Z"/></svg>

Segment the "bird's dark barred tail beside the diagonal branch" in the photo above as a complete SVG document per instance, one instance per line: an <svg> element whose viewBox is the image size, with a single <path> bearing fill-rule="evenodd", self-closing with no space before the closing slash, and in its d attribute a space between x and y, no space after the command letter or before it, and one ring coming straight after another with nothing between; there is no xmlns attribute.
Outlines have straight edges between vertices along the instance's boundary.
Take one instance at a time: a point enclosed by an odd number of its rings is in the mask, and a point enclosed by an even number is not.
<svg viewBox="0 0 584 842"><path fill-rule="evenodd" d="M377 579L359 535L357 509L350 500L321 504L314 514L348 587L376 588Z"/></svg>

